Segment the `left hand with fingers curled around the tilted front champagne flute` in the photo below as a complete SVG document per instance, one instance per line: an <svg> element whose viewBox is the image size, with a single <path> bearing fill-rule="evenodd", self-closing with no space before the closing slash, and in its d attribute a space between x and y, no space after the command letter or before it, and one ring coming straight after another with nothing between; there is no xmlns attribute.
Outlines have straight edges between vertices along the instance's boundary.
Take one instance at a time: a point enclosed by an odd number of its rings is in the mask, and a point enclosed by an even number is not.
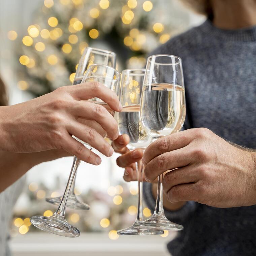
<svg viewBox="0 0 256 256"><path fill-rule="evenodd" d="M83 101L94 97L114 111L122 109L117 95L98 82L61 87L24 103L0 107L0 150L28 153L64 149L85 162L100 164L99 156L71 137L73 134L105 156L113 154L99 133L103 128L108 137L116 139L117 122L102 105Z"/></svg>

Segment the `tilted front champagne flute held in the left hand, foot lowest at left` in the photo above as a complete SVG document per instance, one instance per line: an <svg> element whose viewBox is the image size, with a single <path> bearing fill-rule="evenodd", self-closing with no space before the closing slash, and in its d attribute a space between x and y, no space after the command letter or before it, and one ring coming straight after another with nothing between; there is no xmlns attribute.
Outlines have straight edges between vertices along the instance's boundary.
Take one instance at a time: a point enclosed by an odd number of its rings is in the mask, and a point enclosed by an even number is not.
<svg viewBox="0 0 256 256"><path fill-rule="evenodd" d="M106 87L108 87L110 90L118 92L119 83L120 83L120 74L116 69L112 67L109 67L103 64L94 64L89 67L85 77L83 78L83 82L89 82L89 81L98 81L103 85L105 85ZM93 98L88 101L102 104L104 107L106 107L106 109L111 111L111 114L113 112L113 115L114 115L114 111L106 103L104 103L100 99L98 99L97 101L95 99L97 98ZM76 237L80 235L80 231L76 227L70 225L65 219L65 209L66 209L66 204L68 200L68 194L69 194L73 179L75 177L76 170L78 168L78 165L76 165L76 163L77 163L76 161L73 163L73 166L69 175L68 183L67 183L67 186L58 210L51 217L46 217L46 216L31 217L30 221L35 227L49 233L66 236L66 237Z"/></svg>

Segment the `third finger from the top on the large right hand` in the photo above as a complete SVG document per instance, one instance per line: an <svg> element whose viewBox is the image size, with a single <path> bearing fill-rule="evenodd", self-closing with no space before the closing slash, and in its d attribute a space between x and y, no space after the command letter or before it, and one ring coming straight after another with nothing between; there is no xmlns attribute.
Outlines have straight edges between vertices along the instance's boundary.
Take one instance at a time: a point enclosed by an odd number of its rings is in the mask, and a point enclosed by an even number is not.
<svg viewBox="0 0 256 256"><path fill-rule="evenodd" d="M169 171L164 175L163 190L167 194L174 186L197 182L198 174L196 167L190 165Z"/></svg>

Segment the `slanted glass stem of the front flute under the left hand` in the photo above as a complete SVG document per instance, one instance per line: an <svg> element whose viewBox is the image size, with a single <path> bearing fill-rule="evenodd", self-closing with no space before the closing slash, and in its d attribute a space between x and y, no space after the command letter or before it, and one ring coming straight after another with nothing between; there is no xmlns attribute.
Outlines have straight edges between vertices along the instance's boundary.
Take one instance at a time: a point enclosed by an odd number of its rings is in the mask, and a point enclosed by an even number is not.
<svg viewBox="0 0 256 256"><path fill-rule="evenodd" d="M54 215L58 215L59 217L64 217L65 216L65 209L66 209L66 204L67 204L67 200L68 200L69 191L70 191L72 182L74 180L76 170L77 170L80 163L81 163L81 160L78 159L76 156L74 156L72 168L71 168L71 171L70 171L70 174L69 174L68 183L67 183L64 195L62 197L59 208L54 213Z"/></svg>

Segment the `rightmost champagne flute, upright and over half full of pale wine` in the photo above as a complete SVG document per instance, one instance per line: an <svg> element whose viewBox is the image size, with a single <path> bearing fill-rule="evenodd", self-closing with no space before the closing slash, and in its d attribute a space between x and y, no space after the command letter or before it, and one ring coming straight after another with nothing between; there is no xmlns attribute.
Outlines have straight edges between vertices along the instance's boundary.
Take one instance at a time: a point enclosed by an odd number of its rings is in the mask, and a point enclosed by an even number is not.
<svg viewBox="0 0 256 256"><path fill-rule="evenodd" d="M140 117L152 140L178 132L185 121L185 89L181 59L172 55L148 58L143 81ZM169 221L163 209L163 174L158 177L156 207L141 224L161 229L182 230Z"/></svg>

